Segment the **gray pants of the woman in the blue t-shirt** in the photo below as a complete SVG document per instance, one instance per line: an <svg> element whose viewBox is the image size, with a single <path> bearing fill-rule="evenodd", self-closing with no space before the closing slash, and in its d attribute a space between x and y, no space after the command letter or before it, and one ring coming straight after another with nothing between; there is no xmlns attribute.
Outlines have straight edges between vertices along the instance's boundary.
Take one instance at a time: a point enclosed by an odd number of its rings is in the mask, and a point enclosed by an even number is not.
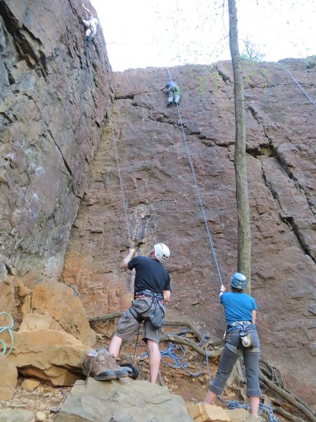
<svg viewBox="0 0 316 422"><path fill-rule="evenodd" d="M260 353L258 333L255 329L249 330L248 333L251 335L252 348L242 347L238 329L233 329L227 333L225 347L223 348L218 364L218 370L209 388L216 395L222 394L225 383L232 372L232 368L237 362L237 359L243 355L244 366L246 368L247 397L261 397L258 377Z"/></svg>

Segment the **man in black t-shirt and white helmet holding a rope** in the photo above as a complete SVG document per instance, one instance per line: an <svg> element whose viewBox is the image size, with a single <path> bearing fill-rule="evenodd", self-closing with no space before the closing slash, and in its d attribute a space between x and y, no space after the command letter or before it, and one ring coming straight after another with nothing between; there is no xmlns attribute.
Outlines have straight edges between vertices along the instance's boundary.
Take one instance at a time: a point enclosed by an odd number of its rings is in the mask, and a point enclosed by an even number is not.
<svg viewBox="0 0 316 422"><path fill-rule="evenodd" d="M136 270L134 282L134 300L131 307L122 314L114 332L107 352L113 354L115 359L123 340L133 340L140 322L143 321L143 340L147 344L149 356L150 382L156 383L159 373L160 328L154 328L152 321L147 316L152 313L154 306L163 318L165 314L164 302L169 302L171 296L171 283L168 271L162 266L170 257L169 248L164 243L156 243L150 251L149 257L134 257L134 249L121 262L122 269ZM156 305L155 305L156 303Z"/></svg>

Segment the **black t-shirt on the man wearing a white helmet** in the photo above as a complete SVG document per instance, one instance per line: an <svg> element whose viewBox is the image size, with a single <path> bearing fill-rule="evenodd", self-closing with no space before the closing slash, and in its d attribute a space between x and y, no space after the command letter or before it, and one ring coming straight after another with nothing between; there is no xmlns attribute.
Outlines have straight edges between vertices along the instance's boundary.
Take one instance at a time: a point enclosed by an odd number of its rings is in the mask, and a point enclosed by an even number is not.
<svg viewBox="0 0 316 422"><path fill-rule="evenodd" d="M134 292L150 290L162 295L163 290L171 291L168 271L159 261L149 257L135 257L128 262L129 269L136 269Z"/></svg>

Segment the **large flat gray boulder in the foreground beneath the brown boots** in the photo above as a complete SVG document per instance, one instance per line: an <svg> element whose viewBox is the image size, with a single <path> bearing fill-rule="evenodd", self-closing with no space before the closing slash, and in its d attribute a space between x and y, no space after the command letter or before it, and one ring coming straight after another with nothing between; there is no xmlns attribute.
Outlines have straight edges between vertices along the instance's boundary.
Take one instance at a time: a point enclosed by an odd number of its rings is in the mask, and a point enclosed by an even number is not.
<svg viewBox="0 0 316 422"><path fill-rule="evenodd" d="M60 408L56 422L190 422L185 402L168 388L121 378L77 381Z"/></svg>

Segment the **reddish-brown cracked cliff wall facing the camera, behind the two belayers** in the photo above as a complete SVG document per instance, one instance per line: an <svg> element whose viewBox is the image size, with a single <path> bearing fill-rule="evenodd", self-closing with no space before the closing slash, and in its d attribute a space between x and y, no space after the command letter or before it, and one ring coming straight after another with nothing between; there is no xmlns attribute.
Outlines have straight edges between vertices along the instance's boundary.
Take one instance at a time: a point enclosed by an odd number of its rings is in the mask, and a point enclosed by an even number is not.
<svg viewBox="0 0 316 422"><path fill-rule="evenodd" d="M300 60L282 65L315 98L315 68L306 70ZM170 71L181 88L185 139L228 285L237 254L232 69L223 62ZM159 90L166 80L165 69L114 74L112 116L72 229L63 278L79 288L89 315L123 310L133 280L119 271L119 263L129 236L144 254L163 241L171 248L169 316L193 319L220 336L220 281L177 109L166 108L166 94ZM251 293L263 356L282 369L290 388L315 402L315 106L281 65L245 63L244 86Z"/></svg>

